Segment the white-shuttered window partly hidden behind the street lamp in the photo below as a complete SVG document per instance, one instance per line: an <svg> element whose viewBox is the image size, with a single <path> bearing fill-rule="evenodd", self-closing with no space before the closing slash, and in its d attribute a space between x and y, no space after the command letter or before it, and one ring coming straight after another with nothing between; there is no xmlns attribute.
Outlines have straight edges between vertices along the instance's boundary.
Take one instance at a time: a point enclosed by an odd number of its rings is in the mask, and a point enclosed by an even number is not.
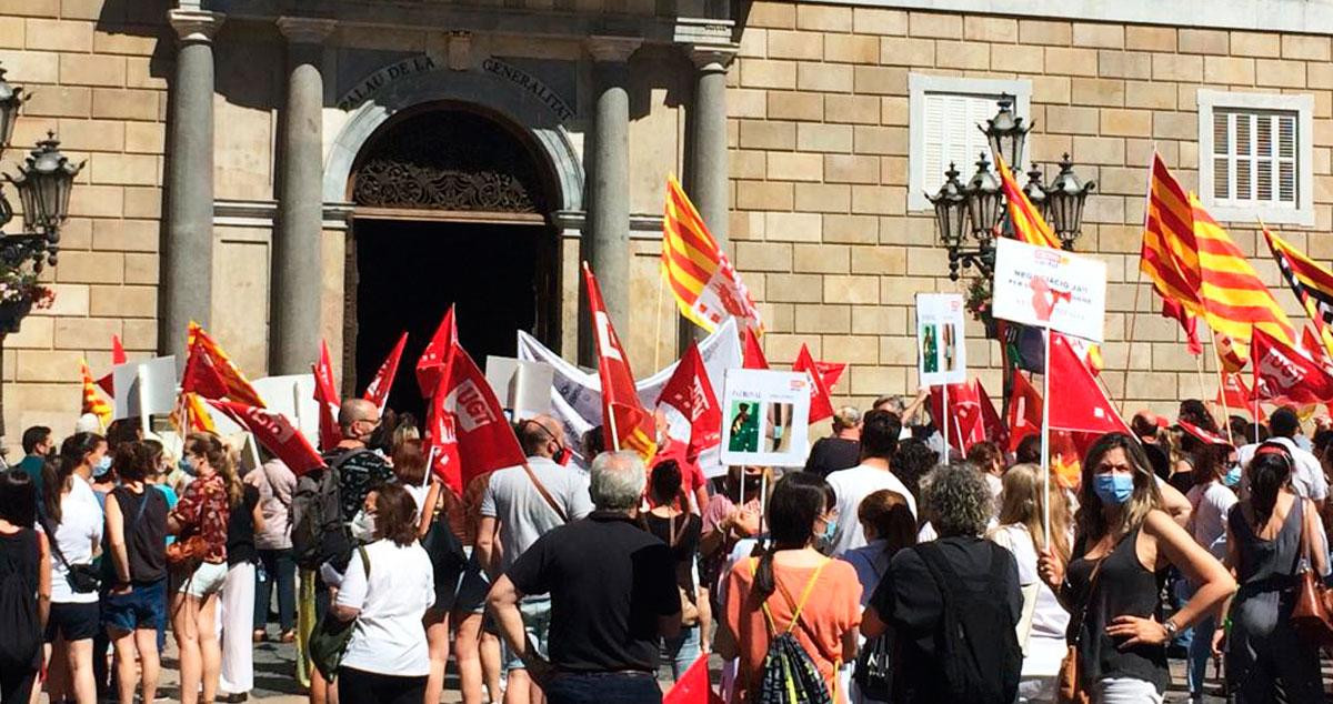
<svg viewBox="0 0 1333 704"><path fill-rule="evenodd" d="M950 163L956 164L958 179L966 181L976 172L981 153L992 159L986 136L977 125L996 116L1001 95L1009 95L1014 112L1028 117L1032 83L912 73L908 92L908 207L928 211L926 193L940 189Z"/></svg>

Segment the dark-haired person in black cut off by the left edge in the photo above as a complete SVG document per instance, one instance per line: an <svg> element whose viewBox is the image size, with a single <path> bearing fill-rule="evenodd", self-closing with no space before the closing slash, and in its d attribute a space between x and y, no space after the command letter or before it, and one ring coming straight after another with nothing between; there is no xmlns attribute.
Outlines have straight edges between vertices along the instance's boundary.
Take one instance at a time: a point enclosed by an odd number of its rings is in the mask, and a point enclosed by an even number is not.
<svg viewBox="0 0 1333 704"><path fill-rule="evenodd" d="M23 469L0 472L0 703L27 704L41 671L51 609L51 551L33 529L37 491Z"/></svg>

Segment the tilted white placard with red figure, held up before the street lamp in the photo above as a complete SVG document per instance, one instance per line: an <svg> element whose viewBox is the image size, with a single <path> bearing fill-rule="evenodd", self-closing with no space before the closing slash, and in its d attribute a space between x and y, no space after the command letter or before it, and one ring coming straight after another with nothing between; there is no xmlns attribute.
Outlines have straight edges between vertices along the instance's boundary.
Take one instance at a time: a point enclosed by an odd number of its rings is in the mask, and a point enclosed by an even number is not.
<svg viewBox="0 0 1333 704"><path fill-rule="evenodd" d="M1106 263L1064 249L996 240L994 316L1102 341Z"/></svg>

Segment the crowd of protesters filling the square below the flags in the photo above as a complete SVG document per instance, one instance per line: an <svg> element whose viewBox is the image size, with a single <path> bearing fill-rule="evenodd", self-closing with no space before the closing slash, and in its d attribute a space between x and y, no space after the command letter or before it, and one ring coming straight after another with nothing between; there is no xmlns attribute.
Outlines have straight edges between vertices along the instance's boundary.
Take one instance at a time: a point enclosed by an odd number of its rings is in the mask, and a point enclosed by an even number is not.
<svg viewBox="0 0 1333 704"><path fill-rule="evenodd" d="M436 703L451 660L469 704L640 704L710 655L734 703L1160 703L1173 652L1194 699L1218 660L1236 701L1324 697L1292 612L1329 573L1333 429L1184 401L1061 481L1030 437L948 447L924 399L713 480L666 423L645 465L537 416L527 463L461 496L364 400L301 477L212 433L177 459L132 421L29 428L0 473L0 703L155 701L168 623L185 703L244 700L264 640L299 643L315 704Z"/></svg>

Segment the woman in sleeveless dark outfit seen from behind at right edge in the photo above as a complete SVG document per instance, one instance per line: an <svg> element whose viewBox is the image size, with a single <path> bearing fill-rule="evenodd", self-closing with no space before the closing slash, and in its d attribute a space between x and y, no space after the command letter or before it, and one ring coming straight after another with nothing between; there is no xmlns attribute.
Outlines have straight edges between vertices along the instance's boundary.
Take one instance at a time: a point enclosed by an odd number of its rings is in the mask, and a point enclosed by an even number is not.
<svg viewBox="0 0 1333 704"><path fill-rule="evenodd" d="M1246 467L1249 497L1226 515L1240 589L1222 612L1230 620L1226 681L1237 701L1324 700L1318 644L1292 628L1292 608L1302 561L1328 575L1328 545L1314 503L1293 491L1294 469L1285 444L1261 444Z"/></svg>

